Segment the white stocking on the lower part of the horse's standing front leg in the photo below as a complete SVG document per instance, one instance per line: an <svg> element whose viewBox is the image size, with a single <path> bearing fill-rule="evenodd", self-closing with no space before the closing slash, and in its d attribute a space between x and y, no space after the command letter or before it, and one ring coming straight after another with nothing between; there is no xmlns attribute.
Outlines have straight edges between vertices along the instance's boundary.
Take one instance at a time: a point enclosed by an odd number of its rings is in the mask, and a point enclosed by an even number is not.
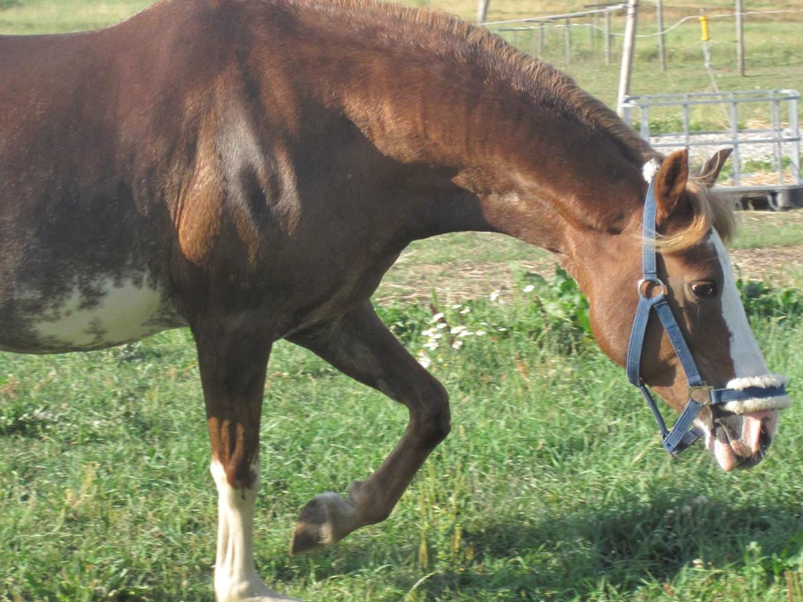
<svg viewBox="0 0 803 602"><path fill-rule="evenodd" d="M259 487L258 465L253 488L235 489L226 480L219 462L210 466L218 488L218 556L214 563L214 596L217 602L278 602L292 600L271 591L254 567L254 503Z"/></svg>

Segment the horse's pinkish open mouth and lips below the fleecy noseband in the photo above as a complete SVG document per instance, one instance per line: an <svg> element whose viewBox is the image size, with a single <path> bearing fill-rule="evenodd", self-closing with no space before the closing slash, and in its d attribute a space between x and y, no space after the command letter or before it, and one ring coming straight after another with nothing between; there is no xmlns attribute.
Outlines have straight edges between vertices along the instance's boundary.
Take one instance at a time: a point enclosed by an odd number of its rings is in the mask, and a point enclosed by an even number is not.
<svg viewBox="0 0 803 602"><path fill-rule="evenodd" d="M715 417L713 428L707 429L705 444L722 470L752 468L767 454L777 425L777 409L725 412Z"/></svg>

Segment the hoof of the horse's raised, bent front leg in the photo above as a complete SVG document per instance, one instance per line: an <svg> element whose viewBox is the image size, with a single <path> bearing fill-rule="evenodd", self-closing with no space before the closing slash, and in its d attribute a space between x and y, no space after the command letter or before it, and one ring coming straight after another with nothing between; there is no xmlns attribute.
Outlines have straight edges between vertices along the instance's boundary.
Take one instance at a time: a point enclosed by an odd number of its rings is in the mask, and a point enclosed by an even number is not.
<svg viewBox="0 0 803 602"><path fill-rule="evenodd" d="M331 545L359 526L357 510L351 502L331 491L316 495L301 510L293 531L290 553L300 554Z"/></svg>

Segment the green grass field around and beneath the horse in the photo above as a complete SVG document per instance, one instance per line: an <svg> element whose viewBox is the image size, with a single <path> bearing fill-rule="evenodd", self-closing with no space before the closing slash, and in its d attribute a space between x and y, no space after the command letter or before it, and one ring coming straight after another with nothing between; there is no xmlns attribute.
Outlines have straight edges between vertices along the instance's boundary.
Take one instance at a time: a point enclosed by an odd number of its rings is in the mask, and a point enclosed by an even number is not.
<svg viewBox="0 0 803 602"><path fill-rule="evenodd" d="M145 4L6 0L0 31L104 26ZM474 8L428 4L467 17ZM489 16L580 5L492 0ZM798 48L800 25L781 25ZM803 54L784 63L772 31L762 36L768 58L750 81L803 87ZM571 68L605 96L611 75L596 64ZM669 79L641 64L645 92L707 80L695 79L691 54ZM745 217L733 246L770 258L768 245L796 249L800 218ZM276 345L255 524L263 579L316 602L803 602L803 322L789 304L800 294L768 291L750 305L768 364L791 376L796 405L760 466L724 474L700 449L666 456L638 393L585 333L570 286L524 292L537 281L517 266L544 262L532 247L473 234L417 242L402 256L377 299L450 391L454 430L385 523L297 558L287 546L300 508L373 470L406 412L300 348ZM797 260L781 266L785 283L801 275ZM492 302L502 280L507 290ZM484 334L425 350L430 305L451 327ZM0 600L212 600L208 464L188 332L103 352L0 354Z"/></svg>

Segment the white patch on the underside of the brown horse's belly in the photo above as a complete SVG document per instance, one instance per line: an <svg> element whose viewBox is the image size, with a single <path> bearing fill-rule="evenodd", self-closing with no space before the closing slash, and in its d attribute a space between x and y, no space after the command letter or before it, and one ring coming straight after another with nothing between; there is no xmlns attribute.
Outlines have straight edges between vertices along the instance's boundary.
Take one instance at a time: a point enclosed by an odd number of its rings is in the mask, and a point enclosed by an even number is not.
<svg viewBox="0 0 803 602"><path fill-rule="evenodd" d="M91 289L75 287L55 302L35 302L26 295L14 312L24 335L0 349L22 353L91 351L131 343L185 324L147 278L104 279Z"/></svg>

